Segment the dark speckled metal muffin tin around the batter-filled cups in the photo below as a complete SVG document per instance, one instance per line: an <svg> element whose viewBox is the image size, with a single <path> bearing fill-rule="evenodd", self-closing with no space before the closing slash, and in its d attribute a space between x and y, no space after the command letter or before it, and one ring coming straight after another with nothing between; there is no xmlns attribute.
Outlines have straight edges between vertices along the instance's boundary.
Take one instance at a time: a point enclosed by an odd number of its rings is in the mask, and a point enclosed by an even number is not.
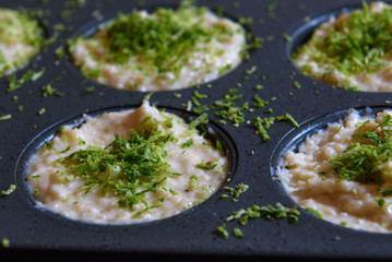
<svg viewBox="0 0 392 262"><path fill-rule="evenodd" d="M357 231L334 225L307 213L290 200L274 179L274 168L282 154L292 145L302 141L301 135L322 128L330 121L344 117L348 108L388 108L391 93L351 92L301 75L289 60L289 53L307 39L318 23L326 21L342 10L360 8L361 1L340 0L209 0L198 1L211 10L223 7L223 13L234 20L252 17L247 31L263 37L262 48L250 51L233 72L221 79L190 86L185 90L156 92L150 102L158 108L167 108L186 118L197 117L187 111L187 103L194 92L206 94L202 105L223 99L230 88L237 88L253 108L253 97L259 95L270 104L264 108L245 111L246 121L235 127L231 122L221 123L215 112L209 110L207 126L217 130L213 139L224 143L230 156L230 180L224 187L246 183L249 189L238 202L222 199L227 191L222 188L204 203L174 217L136 225L93 225L63 218L34 207L24 181L26 160L37 146L50 139L60 123L81 119L83 114L105 109L134 108L141 105L149 93L120 91L86 80L69 60L69 56L57 59L55 51L60 45L80 34L92 34L96 26L118 12L132 9L153 11L157 7L176 7L175 0L86 1L83 7L71 7L70 1L1 1L1 8L40 10L40 23L46 37L55 40L25 68L16 72L21 76L26 70L45 74L22 88L8 93L8 78L0 79L0 190L15 183L16 190L0 196L0 239L10 240L9 248L0 249L0 258L39 259L110 259L124 255L127 259L388 259L392 255L389 234ZM99 20L97 20L99 19ZM59 31L59 24L64 28ZM289 36L290 40L288 40ZM257 70L248 74L253 67ZM300 87L295 85L295 81ZM51 86L63 96L44 97L41 86ZM254 87L261 84L263 88ZM210 86L212 85L212 86ZM86 92L86 87L94 87ZM180 94L178 97L177 94ZM23 106L23 111L19 106ZM38 112L45 108L45 114ZM272 108L272 112L265 112ZM270 129L271 139L263 141L256 134L252 119L290 114L300 123L294 128L288 122L275 122ZM323 116L326 116L324 118ZM233 211L253 204L297 206L298 223L288 219L251 219L246 226L227 222L229 238L217 233L217 227ZM240 227L243 238L231 234Z"/></svg>

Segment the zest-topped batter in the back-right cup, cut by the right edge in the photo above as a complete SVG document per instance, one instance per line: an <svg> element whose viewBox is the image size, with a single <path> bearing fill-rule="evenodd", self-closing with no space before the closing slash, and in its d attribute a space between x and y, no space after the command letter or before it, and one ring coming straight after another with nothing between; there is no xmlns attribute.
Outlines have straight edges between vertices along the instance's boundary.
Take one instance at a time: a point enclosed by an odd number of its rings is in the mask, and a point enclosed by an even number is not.
<svg viewBox="0 0 392 262"><path fill-rule="evenodd" d="M390 15L392 9L383 2L372 2L369 3L369 7L365 7L368 11L355 11L361 12L353 19L356 21L355 25L349 22L353 13L331 17L321 24L311 38L296 50L293 57L294 63L305 74L333 86L365 92L391 92L392 60L390 49L388 45L378 43L383 38L381 36L382 26L388 27L383 33L390 35L391 25L388 25L390 22L387 23L385 17ZM380 15L367 19L370 17L368 14ZM358 16L363 21L358 22ZM371 26L377 23L379 28L371 29ZM355 44L351 44L351 38L346 37L348 32L352 34L351 37L355 38ZM330 37L332 35L334 37ZM367 37L369 39L366 39ZM390 43L389 39L384 41ZM357 51L356 45L361 45L359 51ZM332 46L336 47L333 51L331 50ZM365 46L369 47L370 50L367 50Z"/></svg>

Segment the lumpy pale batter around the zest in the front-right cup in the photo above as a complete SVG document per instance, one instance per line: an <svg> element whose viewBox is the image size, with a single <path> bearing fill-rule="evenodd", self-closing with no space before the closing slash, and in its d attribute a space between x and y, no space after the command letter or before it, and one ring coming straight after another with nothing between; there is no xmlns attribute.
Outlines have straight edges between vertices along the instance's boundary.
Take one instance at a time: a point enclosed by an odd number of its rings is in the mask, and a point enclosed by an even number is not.
<svg viewBox="0 0 392 262"><path fill-rule="evenodd" d="M343 179L331 164L336 154L358 142L353 134L375 130L388 114L392 112L383 111L375 118L352 110L343 121L308 136L297 151L285 153L276 175L293 200L338 225L391 231L392 196L385 192L391 189L392 159L376 167L382 174L380 184Z"/></svg>

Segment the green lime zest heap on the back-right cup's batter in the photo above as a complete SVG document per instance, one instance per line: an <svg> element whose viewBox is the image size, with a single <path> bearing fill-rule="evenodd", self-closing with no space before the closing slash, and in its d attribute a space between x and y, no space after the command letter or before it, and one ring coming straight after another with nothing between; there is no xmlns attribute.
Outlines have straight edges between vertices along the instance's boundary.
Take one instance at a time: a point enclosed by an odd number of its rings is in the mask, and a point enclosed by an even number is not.
<svg viewBox="0 0 392 262"><path fill-rule="evenodd" d="M353 11L348 19L334 23L324 37L313 35L309 45L300 47L317 63L336 68L351 75L372 73L387 66L384 58L392 50L392 9L388 5L380 12L371 12L363 2L363 10ZM306 68L304 68L306 71Z"/></svg>

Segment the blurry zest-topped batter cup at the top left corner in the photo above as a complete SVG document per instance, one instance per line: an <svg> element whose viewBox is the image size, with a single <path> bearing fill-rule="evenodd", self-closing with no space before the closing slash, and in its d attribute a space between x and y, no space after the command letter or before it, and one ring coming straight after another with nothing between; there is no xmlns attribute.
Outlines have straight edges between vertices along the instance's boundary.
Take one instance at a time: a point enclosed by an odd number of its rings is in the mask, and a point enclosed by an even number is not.
<svg viewBox="0 0 392 262"><path fill-rule="evenodd" d="M5 76L26 67L39 53L48 32L28 10L0 8L0 76Z"/></svg>

